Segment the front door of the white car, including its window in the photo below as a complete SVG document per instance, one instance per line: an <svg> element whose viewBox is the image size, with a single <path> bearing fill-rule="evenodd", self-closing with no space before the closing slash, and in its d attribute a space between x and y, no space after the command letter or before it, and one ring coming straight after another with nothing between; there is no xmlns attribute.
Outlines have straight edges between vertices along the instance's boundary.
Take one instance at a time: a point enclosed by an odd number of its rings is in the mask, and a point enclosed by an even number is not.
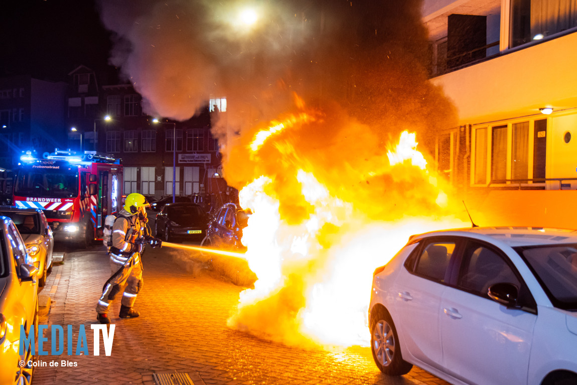
<svg viewBox="0 0 577 385"><path fill-rule="evenodd" d="M534 304L533 297L499 249L470 240L463 250L456 287L447 287L441 300L445 371L475 384L526 384L536 306L534 313L507 309L487 293L508 282L524 303Z"/></svg>

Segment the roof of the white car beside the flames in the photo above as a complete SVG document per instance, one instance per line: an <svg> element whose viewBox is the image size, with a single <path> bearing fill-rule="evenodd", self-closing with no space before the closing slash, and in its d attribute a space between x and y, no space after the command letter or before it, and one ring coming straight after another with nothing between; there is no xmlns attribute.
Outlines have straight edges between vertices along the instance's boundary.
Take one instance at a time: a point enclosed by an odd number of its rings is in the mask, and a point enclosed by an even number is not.
<svg viewBox="0 0 577 385"><path fill-rule="evenodd" d="M485 241L499 241L511 247L577 243L577 230L547 227L472 227L430 231L411 240L432 236L460 236Z"/></svg>

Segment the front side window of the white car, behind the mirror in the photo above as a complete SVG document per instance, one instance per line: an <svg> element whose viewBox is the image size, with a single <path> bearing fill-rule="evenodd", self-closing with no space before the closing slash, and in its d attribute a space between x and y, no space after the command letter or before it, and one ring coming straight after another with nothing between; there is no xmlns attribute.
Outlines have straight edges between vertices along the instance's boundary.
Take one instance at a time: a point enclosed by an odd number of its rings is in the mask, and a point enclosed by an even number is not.
<svg viewBox="0 0 577 385"><path fill-rule="evenodd" d="M463 253L458 286L488 297L489 286L495 283L512 283L519 289L521 284L515 272L496 251L468 242Z"/></svg>

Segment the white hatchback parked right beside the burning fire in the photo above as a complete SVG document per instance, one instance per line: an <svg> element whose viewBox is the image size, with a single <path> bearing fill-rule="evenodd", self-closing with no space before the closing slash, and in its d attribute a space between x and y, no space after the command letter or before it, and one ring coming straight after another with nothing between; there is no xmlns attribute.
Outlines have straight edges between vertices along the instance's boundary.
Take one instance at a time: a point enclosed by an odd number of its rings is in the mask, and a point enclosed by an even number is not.
<svg viewBox="0 0 577 385"><path fill-rule="evenodd" d="M377 367L454 384L577 384L577 231L474 227L410 238L377 268Z"/></svg>

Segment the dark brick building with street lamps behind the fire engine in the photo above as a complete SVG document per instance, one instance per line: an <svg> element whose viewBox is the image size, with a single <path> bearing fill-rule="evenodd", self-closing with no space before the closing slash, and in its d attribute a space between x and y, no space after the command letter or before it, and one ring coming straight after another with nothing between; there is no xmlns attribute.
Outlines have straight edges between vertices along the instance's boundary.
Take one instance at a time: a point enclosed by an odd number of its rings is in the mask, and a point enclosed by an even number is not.
<svg viewBox="0 0 577 385"><path fill-rule="evenodd" d="M219 143L210 128L211 114L226 114L226 98L207 100L203 111L176 122L145 114L130 84L100 85L85 66L69 76L69 147L121 158L123 194L172 195L173 185L175 195L224 193Z"/></svg>

